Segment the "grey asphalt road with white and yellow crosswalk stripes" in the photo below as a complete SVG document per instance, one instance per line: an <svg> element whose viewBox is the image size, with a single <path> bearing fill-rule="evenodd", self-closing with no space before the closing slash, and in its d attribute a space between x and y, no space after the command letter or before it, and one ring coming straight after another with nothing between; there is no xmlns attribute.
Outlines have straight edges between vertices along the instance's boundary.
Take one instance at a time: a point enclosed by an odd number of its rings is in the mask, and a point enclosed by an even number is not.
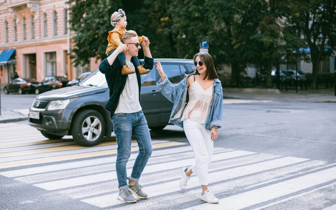
<svg viewBox="0 0 336 210"><path fill-rule="evenodd" d="M335 104L236 102L224 104L209 168L219 204L199 199L196 176L179 189L194 155L176 126L151 132L155 149L140 179L150 198L124 204L113 137L81 148L17 122L0 125L0 209L336 209Z"/></svg>

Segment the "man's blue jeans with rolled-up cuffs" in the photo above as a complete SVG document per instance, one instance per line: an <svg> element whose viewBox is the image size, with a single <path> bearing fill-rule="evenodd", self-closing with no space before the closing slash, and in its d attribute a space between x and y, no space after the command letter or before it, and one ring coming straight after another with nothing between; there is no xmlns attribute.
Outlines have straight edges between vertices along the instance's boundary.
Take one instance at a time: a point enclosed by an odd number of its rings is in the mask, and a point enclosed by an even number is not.
<svg viewBox="0 0 336 210"><path fill-rule="evenodd" d="M135 159L130 180L137 182L152 155L151 135L142 110L136 113L114 114L112 123L118 144L116 161L118 187L120 190L127 190L126 164L131 155L132 136L138 142L139 153Z"/></svg>

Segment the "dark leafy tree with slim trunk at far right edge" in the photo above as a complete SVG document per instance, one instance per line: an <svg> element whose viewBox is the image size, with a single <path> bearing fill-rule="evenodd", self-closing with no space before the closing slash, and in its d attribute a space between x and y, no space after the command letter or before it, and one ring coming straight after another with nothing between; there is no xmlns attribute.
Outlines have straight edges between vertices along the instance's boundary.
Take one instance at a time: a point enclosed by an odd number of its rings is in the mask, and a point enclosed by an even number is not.
<svg viewBox="0 0 336 210"><path fill-rule="evenodd" d="M313 87L317 87L321 60L335 50L335 6L335 0L296 0L293 1L293 15L288 19L303 35L301 41L310 48Z"/></svg>

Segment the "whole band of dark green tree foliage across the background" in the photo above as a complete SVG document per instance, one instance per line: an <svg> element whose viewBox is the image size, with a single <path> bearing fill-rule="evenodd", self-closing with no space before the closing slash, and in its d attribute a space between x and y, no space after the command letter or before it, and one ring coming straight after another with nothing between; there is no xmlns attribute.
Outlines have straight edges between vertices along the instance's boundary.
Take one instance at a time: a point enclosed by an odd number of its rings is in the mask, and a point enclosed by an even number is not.
<svg viewBox="0 0 336 210"><path fill-rule="evenodd" d="M232 67L231 85L243 86L241 73L247 63L266 67L267 81L271 82L269 69L278 58L309 60L305 53L298 52L307 46L312 54L321 46L334 49L336 17L330 16L335 13L335 1L69 0L71 30L76 33L72 58L75 65L86 63L90 57L106 58L108 31L113 29L111 14L123 8L127 30L149 37L153 57L193 58L199 52L199 43L208 37L215 65ZM307 17L313 22L309 30ZM316 44L309 44L309 37ZM142 56L140 50L139 58Z"/></svg>

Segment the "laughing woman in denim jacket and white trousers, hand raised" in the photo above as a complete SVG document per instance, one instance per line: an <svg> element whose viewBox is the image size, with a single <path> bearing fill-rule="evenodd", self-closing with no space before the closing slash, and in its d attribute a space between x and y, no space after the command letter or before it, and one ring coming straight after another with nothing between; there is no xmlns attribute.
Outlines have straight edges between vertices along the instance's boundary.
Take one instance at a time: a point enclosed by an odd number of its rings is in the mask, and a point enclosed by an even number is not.
<svg viewBox="0 0 336 210"><path fill-rule="evenodd" d="M161 76L157 83L161 93L174 103L169 123L184 129L192 146L196 163L182 168L180 187L186 188L192 173L198 175L202 194L201 200L218 203L219 200L208 190L208 168L212 158L213 141L217 139L217 128L221 128L223 91L209 53L194 56L196 70L180 83L173 85L164 74L160 61L156 69Z"/></svg>

